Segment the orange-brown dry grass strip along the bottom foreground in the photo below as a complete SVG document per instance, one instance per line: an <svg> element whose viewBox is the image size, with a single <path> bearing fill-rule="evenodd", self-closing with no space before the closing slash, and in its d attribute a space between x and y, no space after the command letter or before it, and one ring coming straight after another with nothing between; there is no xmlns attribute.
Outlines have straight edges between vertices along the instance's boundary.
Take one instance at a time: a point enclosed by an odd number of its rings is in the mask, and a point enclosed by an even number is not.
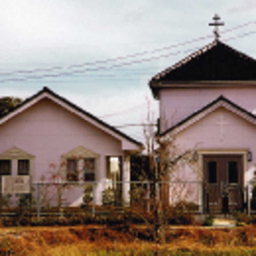
<svg viewBox="0 0 256 256"><path fill-rule="evenodd" d="M0 249L10 249L13 255L21 256L128 256L150 255L150 252L158 252L151 255L256 255L256 227L251 225L170 228L165 234L166 244L148 241L149 231L93 226L1 228Z"/></svg>

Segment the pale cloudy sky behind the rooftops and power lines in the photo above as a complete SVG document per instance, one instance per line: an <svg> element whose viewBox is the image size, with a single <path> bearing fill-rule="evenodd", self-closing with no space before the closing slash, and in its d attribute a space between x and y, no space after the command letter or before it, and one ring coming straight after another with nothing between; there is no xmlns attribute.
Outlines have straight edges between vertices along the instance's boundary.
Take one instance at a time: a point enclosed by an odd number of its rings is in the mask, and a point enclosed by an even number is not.
<svg viewBox="0 0 256 256"><path fill-rule="evenodd" d="M44 86L113 126L158 117L148 81L214 40L256 58L256 2L2 0L0 97ZM142 126L119 128L144 141Z"/></svg>

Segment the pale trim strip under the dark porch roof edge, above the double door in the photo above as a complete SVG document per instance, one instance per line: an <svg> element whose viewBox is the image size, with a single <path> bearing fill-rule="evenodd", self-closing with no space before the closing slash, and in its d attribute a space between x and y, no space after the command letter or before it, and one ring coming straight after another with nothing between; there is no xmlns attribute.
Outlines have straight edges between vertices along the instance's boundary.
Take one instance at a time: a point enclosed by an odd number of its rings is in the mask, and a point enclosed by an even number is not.
<svg viewBox="0 0 256 256"><path fill-rule="evenodd" d="M205 116L207 116L210 113L212 113L213 111L215 111L217 108L221 108L221 107L225 108L226 110L228 110L228 111L230 111L230 112L232 112L234 114L236 114L237 116L242 117L243 119L245 119L246 121L250 122L251 124L256 125L256 119L255 118L253 118L252 116L248 115L244 111L242 111L242 110L232 106L231 104L229 104L225 100L219 100L218 102L213 104L211 107L206 108L202 112L198 113L196 116L191 117L190 119L188 119L184 123L182 123L179 126L175 127L173 130L167 132L164 136L162 136L161 140L167 139L167 137L170 136L170 135L172 136L172 135L178 134L179 132L182 132L183 130L185 130L189 126L191 126L192 124L195 124L196 122L198 122L199 120L201 120Z"/></svg>

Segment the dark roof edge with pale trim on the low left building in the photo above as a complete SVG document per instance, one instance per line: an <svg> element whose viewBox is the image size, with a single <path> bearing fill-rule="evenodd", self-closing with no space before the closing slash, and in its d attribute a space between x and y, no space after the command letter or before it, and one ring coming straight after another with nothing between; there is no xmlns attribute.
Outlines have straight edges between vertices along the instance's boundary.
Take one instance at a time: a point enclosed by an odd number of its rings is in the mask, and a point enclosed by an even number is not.
<svg viewBox="0 0 256 256"><path fill-rule="evenodd" d="M17 105L8 113L0 116L0 125L11 119L13 116L18 115L19 113L23 112L25 109L29 108L30 106L34 105L39 100L43 98L48 98L55 103L61 105L64 108L67 108L70 112L76 114L77 116L82 117L86 121L96 125L100 129L104 129L112 136L118 139L126 139L137 146L142 147L143 144L137 140L132 139L130 136L126 135L125 133L117 130L115 127L105 123L104 121L100 120L96 116L93 116L91 113L85 111L84 109L76 106L74 103L70 102L69 100L61 97L57 93L50 90L48 87L43 87L42 90L37 92L36 94L32 95L31 97L27 98L26 100L22 101L21 104Z"/></svg>

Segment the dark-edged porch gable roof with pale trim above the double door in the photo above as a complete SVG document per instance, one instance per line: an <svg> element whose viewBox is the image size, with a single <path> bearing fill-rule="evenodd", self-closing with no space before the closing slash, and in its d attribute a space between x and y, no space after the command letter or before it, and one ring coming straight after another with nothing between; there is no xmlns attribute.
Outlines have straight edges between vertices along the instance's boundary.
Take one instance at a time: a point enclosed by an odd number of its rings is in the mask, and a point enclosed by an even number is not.
<svg viewBox="0 0 256 256"><path fill-rule="evenodd" d="M216 100L213 100L203 108L197 110L193 114L189 115L185 119L181 120L179 123L173 125L172 127L168 128L164 132L160 133L160 137L165 136L169 132L174 132L175 134L181 132L182 130L186 129L188 126L196 123L204 116L212 113L217 108L226 108L227 110L235 113L236 115L244 118L248 122L256 125L256 116L253 115L251 112L247 111L246 109L238 106L231 100L228 100L223 95L220 95Z"/></svg>

